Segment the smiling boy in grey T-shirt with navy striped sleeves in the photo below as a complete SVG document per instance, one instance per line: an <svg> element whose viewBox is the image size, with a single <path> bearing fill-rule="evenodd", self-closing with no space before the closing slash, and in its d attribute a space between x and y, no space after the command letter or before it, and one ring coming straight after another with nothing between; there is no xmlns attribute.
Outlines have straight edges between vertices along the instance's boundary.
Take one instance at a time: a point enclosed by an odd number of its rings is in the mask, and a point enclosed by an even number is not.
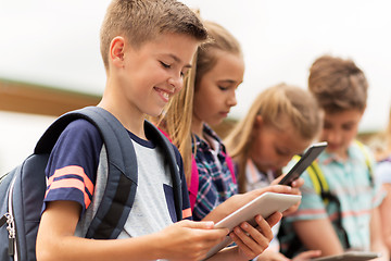
<svg viewBox="0 0 391 261"><path fill-rule="evenodd" d="M182 88L192 57L206 39L200 20L176 0L111 2L101 27L108 79L98 107L122 123L135 147L135 201L116 239L85 238L99 206L96 195L105 188L100 181L106 158L98 129L85 120L72 122L58 139L46 170L49 184L37 236L38 260L201 260L225 238L228 231L212 229L213 222L179 221L168 165L144 129L146 116L161 114ZM190 219L182 162L178 150L174 151L181 178L182 219ZM272 239L269 223L260 219L260 227L241 232L250 249L260 249L261 240L267 245ZM238 259L238 248L222 253L212 259L247 260Z"/></svg>

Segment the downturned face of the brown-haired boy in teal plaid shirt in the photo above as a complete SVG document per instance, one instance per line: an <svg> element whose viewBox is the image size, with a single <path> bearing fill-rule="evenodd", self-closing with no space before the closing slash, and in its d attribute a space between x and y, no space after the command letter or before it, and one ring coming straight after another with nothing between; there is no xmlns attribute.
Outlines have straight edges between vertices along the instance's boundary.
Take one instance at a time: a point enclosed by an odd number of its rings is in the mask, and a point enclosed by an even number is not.
<svg viewBox="0 0 391 261"><path fill-rule="evenodd" d="M363 116L360 110L348 110L337 113L325 113L320 140L327 141L326 151L346 157L348 148L357 135L358 124Z"/></svg>

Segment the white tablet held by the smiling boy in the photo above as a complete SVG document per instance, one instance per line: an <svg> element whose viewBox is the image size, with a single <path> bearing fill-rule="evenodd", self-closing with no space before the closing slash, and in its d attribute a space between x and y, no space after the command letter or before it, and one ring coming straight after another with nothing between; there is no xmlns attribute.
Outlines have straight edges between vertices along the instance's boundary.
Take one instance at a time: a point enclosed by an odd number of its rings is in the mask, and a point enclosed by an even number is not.
<svg viewBox="0 0 391 261"><path fill-rule="evenodd" d="M229 228L229 232L231 232L234 227L244 221L254 226L256 224L254 220L255 215L261 214L264 219L266 219L274 212L282 212L289 209L291 206L300 202L300 195L265 192L216 223L215 228ZM230 243L230 237L226 236L220 244L216 245L207 252L206 258L212 257Z"/></svg>

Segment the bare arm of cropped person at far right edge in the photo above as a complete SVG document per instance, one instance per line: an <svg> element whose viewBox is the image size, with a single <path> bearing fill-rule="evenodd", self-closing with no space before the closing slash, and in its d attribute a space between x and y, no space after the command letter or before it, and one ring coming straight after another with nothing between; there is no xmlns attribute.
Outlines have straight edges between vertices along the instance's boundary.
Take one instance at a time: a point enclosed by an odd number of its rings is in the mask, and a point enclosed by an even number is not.
<svg viewBox="0 0 391 261"><path fill-rule="evenodd" d="M390 253L383 241L381 234L382 223L380 220L379 207L373 209L370 216L370 250L380 252L381 257L377 260L389 261Z"/></svg>

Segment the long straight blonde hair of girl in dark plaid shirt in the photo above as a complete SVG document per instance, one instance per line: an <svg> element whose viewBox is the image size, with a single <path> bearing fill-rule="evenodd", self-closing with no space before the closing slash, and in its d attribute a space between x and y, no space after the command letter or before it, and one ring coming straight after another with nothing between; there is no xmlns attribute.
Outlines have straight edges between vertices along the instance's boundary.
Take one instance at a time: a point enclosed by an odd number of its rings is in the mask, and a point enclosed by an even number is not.
<svg viewBox="0 0 391 261"><path fill-rule="evenodd" d="M185 77L184 88L172 98L167 109L159 119L172 142L178 148L182 159L188 184L191 177L191 119L193 112L194 89L203 75L217 63L215 50L242 54L239 41L223 26L211 21L203 21L209 39L198 48L192 66Z"/></svg>

